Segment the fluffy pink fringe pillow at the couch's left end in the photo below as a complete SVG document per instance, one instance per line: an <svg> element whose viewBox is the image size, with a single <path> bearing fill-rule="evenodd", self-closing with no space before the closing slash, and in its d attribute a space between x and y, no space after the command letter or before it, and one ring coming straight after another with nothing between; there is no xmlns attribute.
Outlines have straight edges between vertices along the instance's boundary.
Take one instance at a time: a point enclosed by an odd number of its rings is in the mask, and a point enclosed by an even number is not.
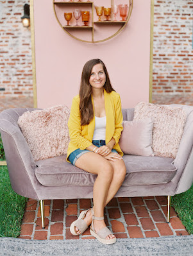
<svg viewBox="0 0 193 256"><path fill-rule="evenodd" d="M66 106L55 106L27 111L19 117L18 125L35 161L67 153L69 115L70 110Z"/></svg>

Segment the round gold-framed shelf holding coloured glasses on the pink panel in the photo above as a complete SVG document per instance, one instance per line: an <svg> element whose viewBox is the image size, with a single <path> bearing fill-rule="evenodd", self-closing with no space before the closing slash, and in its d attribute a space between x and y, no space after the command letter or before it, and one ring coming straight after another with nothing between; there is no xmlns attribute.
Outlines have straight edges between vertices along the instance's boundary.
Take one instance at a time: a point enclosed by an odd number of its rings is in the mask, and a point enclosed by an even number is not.
<svg viewBox="0 0 193 256"><path fill-rule="evenodd" d="M129 11L128 11L128 16L126 18L126 21L94 21L93 19L93 13L94 13L94 2L56 2L55 0L53 0L53 8L54 8L54 11L55 11L55 16L56 16L56 19L58 21L58 23L60 24L60 26L62 27L62 29L68 34L70 35L72 38L75 38L76 40L79 40L81 42L88 42L88 43L98 43L98 42L105 42L106 40L109 40L113 37L115 37L116 35L118 35L123 29L124 27L126 26L126 24L128 23L128 21L130 20L130 17L131 17L131 12L133 10L133 0L128 0L129 1ZM111 3L112 3L112 6L113 6L113 0L111 0ZM62 26L62 24L60 23L59 19L58 19L58 16L56 14L56 4L92 4L92 26ZM112 14L112 17L113 17L113 14ZM110 37L106 37L105 39L103 40L94 40L94 25L95 24L121 24L121 28L119 28L119 30L117 30L117 32L113 33L113 35L111 35ZM72 35L71 33L69 33L69 31L67 31L67 29L74 29L74 28L78 28L78 29L90 29L92 30L92 40L88 41L88 40L83 40L81 38L78 38L78 37L75 37L74 35Z"/></svg>

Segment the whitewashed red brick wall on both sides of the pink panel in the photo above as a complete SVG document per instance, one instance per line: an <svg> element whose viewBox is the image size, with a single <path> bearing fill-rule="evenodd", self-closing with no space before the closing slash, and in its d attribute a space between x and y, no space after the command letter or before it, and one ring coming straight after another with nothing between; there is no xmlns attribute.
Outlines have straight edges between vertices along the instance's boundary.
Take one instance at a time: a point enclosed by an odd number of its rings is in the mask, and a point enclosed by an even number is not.
<svg viewBox="0 0 193 256"><path fill-rule="evenodd" d="M0 96L33 96L29 0L0 1ZM191 0L154 0L153 94L193 94Z"/></svg>

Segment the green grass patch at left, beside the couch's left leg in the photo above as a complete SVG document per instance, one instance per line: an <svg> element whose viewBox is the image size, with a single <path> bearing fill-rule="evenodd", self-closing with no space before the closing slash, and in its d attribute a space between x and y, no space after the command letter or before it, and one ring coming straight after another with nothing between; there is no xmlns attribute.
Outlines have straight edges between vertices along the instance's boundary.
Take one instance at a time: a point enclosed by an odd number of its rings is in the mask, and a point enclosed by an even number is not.
<svg viewBox="0 0 193 256"><path fill-rule="evenodd" d="M27 200L13 191L7 167L0 166L0 237L20 235Z"/></svg>

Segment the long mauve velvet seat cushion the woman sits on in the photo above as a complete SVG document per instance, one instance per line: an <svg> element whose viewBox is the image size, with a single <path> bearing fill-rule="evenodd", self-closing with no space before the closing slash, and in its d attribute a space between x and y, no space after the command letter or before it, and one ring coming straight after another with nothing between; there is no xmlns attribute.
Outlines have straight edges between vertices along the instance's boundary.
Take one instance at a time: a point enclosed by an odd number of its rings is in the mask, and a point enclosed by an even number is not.
<svg viewBox="0 0 193 256"><path fill-rule="evenodd" d="M93 185L97 175L66 162L66 155L36 161L35 175L44 186ZM172 158L124 155L127 174L122 185L167 183L176 174Z"/></svg>

